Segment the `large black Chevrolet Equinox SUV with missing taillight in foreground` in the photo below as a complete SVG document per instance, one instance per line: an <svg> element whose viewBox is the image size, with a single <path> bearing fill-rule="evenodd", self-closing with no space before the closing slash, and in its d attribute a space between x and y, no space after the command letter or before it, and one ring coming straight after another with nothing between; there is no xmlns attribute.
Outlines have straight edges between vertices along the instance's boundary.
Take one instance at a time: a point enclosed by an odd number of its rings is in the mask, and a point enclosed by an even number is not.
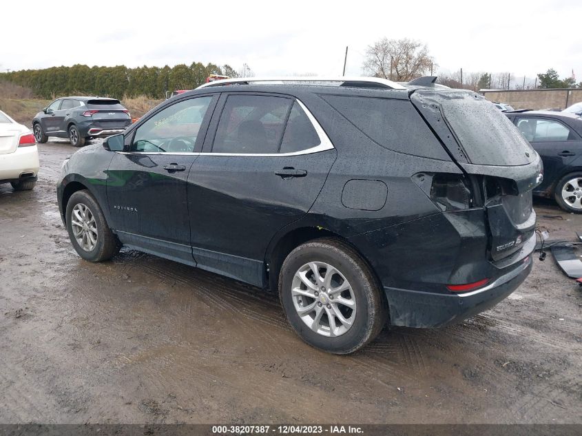
<svg viewBox="0 0 582 436"><path fill-rule="evenodd" d="M225 86L228 85L228 86ZM382 79L229 79L65 161L63 222L92 262L122 245L277 289L309 344L484 311L532 268L541 160L474 92Z"/></svg>

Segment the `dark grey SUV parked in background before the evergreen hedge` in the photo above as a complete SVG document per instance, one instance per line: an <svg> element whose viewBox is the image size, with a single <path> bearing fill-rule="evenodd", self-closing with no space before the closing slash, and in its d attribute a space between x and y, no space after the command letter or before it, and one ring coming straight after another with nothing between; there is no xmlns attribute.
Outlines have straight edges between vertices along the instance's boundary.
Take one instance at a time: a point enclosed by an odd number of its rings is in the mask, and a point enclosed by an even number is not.
<svg viewBox="0 0 582 436"><path fill-rule="evenodd" d="M63 97L34 116L32 132L37 143L55 136L81 147L86 139L120 134L131 123L129 111L114 98Z"/></svg>

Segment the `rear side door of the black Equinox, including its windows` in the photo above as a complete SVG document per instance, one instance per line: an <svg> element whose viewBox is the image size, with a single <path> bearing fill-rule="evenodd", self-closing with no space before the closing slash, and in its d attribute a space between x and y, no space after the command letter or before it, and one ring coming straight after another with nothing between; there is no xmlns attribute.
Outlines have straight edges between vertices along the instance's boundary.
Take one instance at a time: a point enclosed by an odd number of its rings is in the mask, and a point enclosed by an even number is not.
<svg viewBox="0 0 582 436"><path fill-rule="evenodd" d="M215 112L188 176L194 258L202 269L260 286L269 241L309 211L336 152L288 96L222 94Z"/></svg>

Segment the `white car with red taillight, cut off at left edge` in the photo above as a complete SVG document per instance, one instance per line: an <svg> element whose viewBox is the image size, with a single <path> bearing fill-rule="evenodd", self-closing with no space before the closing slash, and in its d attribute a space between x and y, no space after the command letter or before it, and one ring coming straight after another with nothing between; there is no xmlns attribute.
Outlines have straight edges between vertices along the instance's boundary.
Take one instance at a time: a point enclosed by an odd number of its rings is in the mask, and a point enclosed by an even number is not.
<svg viewBox="0 0 582 436"><path fill-rule="evenodd" d="M0 183L32 189L39 174L39 149L28 127L0 111Z"/></svg>

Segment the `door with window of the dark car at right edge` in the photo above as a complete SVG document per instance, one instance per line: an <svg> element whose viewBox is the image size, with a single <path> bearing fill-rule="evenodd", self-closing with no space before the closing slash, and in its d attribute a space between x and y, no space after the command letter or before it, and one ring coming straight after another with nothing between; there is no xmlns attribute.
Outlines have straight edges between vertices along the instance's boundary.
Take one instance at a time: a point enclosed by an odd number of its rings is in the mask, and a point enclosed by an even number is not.
<svg viewBox="0 0 582 436"><path fill-rule="evenodd" d="M580 136L556 118L517 116L515 125L543 162L543 181L536 192L545 192L564 174L576 156L582 156Z"/></svg>

